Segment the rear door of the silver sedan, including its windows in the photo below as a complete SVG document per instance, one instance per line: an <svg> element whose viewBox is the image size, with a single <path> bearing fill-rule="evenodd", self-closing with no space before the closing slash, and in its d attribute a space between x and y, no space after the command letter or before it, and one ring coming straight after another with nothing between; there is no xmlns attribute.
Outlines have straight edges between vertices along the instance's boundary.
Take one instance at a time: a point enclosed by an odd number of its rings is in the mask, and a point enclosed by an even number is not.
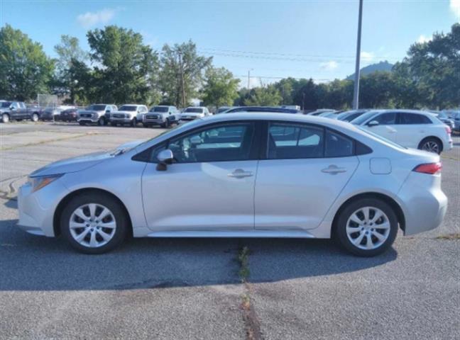
<svg viewBox="0 0 460 340"><path fill-rule="evenodd" d="M358 166L354 141L304 123L273 122L267 132L256 179L256 229L318 227Z"/></svg>

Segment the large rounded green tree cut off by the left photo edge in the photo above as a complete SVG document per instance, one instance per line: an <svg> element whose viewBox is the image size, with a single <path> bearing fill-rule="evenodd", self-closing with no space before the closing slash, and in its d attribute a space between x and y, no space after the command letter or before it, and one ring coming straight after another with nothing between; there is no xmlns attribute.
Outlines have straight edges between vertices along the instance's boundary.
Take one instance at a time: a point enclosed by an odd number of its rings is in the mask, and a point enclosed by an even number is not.
<svg viewBox="0 0 460 340"><path fill-rule="evenodd" d="M53 61L21 30L8 24L0 29L0 97L20 101L48 92Z"/></svg>

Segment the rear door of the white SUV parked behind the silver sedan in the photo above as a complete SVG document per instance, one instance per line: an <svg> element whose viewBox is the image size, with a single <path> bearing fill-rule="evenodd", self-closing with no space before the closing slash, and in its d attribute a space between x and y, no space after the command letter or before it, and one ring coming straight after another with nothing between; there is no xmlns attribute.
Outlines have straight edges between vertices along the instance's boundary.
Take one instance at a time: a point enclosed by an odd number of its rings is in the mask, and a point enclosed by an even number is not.
<svg viewBox="0 0 460 340"><path fill-rule="evenodd" d="M427 137L428 124L432 124L432 121L418 113L401 112L398 116L398 144L417 148L423 138Z"/></svg>

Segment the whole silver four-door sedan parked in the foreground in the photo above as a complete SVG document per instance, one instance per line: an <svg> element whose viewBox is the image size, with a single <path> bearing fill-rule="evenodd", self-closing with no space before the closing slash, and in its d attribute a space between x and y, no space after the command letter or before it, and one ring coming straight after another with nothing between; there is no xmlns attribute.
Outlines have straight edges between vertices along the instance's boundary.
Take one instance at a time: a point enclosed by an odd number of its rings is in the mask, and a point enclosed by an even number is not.
<svg viewBox="0 0 460 340"><path fill-rule="evenodd" d="M18 193L18 225L98 254L133 237L334 238L374 256L437 227L439 155L311 115L234 113L56 162Z"/></svg>

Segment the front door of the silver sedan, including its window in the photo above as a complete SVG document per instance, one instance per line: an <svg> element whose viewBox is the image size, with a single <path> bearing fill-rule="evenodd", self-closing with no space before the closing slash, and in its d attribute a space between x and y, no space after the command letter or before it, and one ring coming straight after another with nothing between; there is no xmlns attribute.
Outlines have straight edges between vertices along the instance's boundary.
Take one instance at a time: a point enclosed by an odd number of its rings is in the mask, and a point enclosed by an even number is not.
<svg viewBox="0 0 460 340"><path fill-rule="evenodd" d="M142 176L148 227L155 231L235 231L254 227L256 123L199 128L156 147ZM168 148L175 162L153 163Z"/></svg>

